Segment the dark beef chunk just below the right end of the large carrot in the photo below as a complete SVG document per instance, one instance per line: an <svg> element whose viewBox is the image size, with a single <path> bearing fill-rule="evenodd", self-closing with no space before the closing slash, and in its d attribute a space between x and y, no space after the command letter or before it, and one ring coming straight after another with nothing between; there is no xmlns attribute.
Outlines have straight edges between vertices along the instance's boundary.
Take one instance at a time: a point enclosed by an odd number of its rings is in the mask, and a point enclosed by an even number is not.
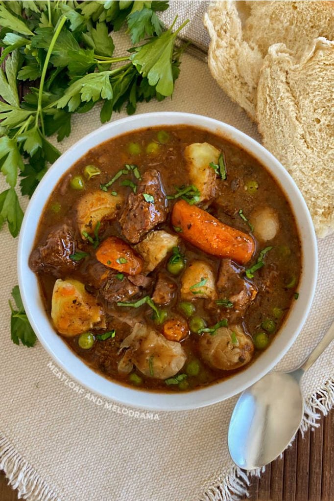
<svg viewBox="0 0 334 501"><path fill-rule="evenodd" d="M218 295L233 303L233 309L224 311L230 322L240 319L257 295L257 289L241 277L242 268L229 259L223 259L217 281Z"/></svg>

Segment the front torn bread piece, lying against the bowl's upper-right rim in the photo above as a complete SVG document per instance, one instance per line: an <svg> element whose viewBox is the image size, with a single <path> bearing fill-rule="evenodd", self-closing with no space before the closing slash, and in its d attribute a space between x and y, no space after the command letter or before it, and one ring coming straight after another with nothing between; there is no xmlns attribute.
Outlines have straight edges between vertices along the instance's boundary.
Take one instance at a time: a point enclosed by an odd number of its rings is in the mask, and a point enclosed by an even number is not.
<svg viewBox="0 0 334 501"><path fill-rule="evenodd" d="M257 88L263 144L300 188L318 236L334 230L334 42L316 39L298 58L269 47Z"/></svg>

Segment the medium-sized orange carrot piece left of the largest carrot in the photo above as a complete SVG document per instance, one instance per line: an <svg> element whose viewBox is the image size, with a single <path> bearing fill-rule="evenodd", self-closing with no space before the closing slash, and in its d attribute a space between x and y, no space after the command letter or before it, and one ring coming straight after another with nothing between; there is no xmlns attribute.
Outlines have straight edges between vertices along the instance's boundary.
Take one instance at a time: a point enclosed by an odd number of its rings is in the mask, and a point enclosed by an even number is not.
<svg viewBox="0 0 334 501"><path fill-rule="evenodd" d="M117 236L109 236L96 251L96 259L102 265L127 275L138 275L143 268L143 260L132 247Z"/></svg>

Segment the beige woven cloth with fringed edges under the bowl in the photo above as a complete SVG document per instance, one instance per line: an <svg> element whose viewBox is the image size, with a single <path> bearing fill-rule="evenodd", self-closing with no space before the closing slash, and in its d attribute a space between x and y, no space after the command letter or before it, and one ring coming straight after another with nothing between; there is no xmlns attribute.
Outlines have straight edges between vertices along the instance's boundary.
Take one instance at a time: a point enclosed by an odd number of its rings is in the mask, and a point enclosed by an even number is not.
<svg viewBox="0 0 334 501"><path fill-rule="evenodd" d="M144 103L137 111L199 113L259 140L255 125L222 93L205 62L189 54L183 57L173 100ZM74 117L73 132L60 149L99 125L98 110ZM315 300L278 369L298 364L330 324L333 248L334 235L319 241ZM246 492L247 477L233 465L226 444L236 398L195 411L156 414L90 394L60 371L39 343L31 349L12 343L8 299L17 284L17 240L7 229L0 252L0 469L21 495L29 501L227 501ZM333 404L333 354L332 346L303 379L304 428L315 423L318 410L325 413Z"/></svg>

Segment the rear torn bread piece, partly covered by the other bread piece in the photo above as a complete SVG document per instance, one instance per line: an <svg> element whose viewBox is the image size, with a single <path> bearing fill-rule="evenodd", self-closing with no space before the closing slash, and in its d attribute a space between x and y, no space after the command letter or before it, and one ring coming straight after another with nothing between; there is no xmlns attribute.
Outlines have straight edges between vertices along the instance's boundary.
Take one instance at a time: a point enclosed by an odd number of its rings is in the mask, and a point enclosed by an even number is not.
<svg viewBox="0 0 334 501"><path fill-rule="evenodd" d="M204 16L209 67L222 89L255 119L256 87L272 44L303 52L317 37L334 40L334 2L219 1Z"/></svg>

